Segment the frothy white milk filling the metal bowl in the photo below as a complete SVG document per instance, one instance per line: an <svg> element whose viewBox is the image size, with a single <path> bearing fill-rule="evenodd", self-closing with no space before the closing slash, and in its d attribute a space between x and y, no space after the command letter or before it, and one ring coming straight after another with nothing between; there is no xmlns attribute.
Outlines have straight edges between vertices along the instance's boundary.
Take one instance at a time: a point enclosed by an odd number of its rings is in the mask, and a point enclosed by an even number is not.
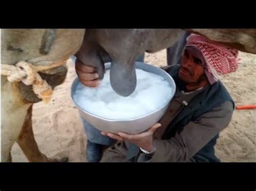
<svg viewBox="0 0 256 191"><path fill-rule="evenodd" d="M85 111L107 119L131 119L149 114L164 106L173 89L163 77L136 69L137 87L123 97L114 92L110 85L110 70L97 88L79 83L73 96L74 101Z"/></svg>

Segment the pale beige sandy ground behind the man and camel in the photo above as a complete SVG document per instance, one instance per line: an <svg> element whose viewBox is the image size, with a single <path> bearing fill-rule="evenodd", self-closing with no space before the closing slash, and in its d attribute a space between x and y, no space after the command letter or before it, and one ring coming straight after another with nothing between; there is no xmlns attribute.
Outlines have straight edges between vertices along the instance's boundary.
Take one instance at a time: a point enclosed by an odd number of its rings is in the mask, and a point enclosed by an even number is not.
<svg viewBox="0 0 256 191"><path fill-rule="evenodd" d="M237 72L221 78L237 105L256 104L256 56L240 53ZM146 54L145 62L166 65L166 51ZM71 60L66 81L55 88L49 104L33 105L33 130L41 152L48 157L69 157L70 162L83 162L86 136L78 110L70 98L70 87L76 77ZM220 133L216 154L224 162L256 162L256 110L235 110L232 121ZM17 144L12 147L14 162L28 161Z"/></svg>

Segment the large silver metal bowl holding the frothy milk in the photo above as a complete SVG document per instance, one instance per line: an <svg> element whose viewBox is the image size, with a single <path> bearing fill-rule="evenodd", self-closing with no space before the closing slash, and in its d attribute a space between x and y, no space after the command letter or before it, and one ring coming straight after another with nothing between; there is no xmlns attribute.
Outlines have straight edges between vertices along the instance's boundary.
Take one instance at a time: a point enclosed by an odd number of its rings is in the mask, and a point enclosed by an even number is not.
<svg viewBox="0 0 256 191"><path fill-rule="evenodd" d="M105 68L110 69L111 63L105 63ZM160 118L164 115L166 109L168 108L168 105L170 101L172 100L174 93L176 91L176 84L172 77L166 73L163 69L160 69L158 67L148 65L143 62L136 62L136 68L143 69L146 72L150 72L153 74L160 75L164 77L164 79L169 82L171 88L173 91L170 93L170 97L168 100L166 100L165 104L162 105L159 109L150 112L149 114L146 114L144 116L140 116L137 118L131 118L131 119L107 119L103 117L99 117L96 115L91 114L90 112L85 111L82 109L73 99L73 95L75 93L75 90L80 83L78 78L76 78L72 83L72 89L71 89L71 98L73 103L76 105L76 107L79 109L80 115L89 122L92 126L94 126L96 129L104 132L125 132L129 134L137 134L143 131L146 131L149 129L152 125L156 124Z"/></svg>

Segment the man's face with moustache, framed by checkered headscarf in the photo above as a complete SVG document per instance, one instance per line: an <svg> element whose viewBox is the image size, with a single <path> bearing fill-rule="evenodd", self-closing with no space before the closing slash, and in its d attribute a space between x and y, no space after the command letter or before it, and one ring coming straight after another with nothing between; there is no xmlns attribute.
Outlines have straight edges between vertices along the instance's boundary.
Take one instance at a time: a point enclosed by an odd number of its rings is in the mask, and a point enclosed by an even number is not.
<svg viewBox="0 0 256 191"><path fill-rule="evenodd" d="M194 47L186 47L181 58L179 77L186 83L199 83L206 79L203 55Z"/></svg>

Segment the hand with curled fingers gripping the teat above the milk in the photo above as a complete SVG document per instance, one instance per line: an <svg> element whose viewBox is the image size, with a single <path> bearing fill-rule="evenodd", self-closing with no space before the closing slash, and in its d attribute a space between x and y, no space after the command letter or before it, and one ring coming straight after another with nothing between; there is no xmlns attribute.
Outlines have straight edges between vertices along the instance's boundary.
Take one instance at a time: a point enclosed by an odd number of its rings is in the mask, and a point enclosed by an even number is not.
<svg viewBox="0 0 256 191"><path fill-rule="evenodd" d="M76 73L78 79L84 86L97 87L99 84L99 75L96 72L96 68L86 66L78 59L76 59Z"/></svg>

